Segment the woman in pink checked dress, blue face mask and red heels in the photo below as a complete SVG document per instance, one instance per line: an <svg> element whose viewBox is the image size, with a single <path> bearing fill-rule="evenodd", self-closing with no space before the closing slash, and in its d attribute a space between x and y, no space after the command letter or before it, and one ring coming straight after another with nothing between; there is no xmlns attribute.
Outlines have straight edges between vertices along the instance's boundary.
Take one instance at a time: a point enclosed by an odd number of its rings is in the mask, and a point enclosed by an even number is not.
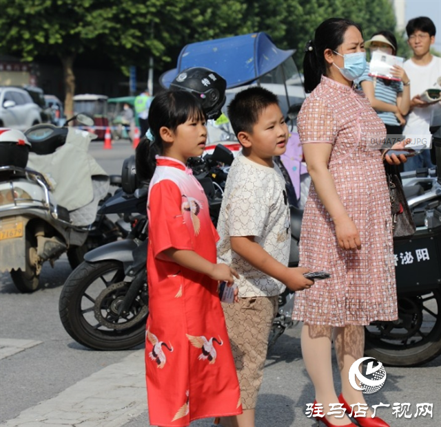
<svg viewBox="0 0 441 427"><path fill-rule="evenodd" d="M329 404L340 399L348 414L351 404L365 404L362 392L349 384L349 369L363 355L364 325L398 317L389 191L380 150L369 145L386 130L369 100L353 88L365 55L360 27L346 19L324 21L305 47L305 89L312 93L299 113L298 132L312 184L300 265L326 270L331 278L296 292L293 317L303 322L302 355L325 414L316 419L326 426L355 426L347 415L327 415ZM400 163L396 155L386 157ZM332 377L333 339L340 397ZM356 420L362 427L387 426L371 410Z"/></svg>

